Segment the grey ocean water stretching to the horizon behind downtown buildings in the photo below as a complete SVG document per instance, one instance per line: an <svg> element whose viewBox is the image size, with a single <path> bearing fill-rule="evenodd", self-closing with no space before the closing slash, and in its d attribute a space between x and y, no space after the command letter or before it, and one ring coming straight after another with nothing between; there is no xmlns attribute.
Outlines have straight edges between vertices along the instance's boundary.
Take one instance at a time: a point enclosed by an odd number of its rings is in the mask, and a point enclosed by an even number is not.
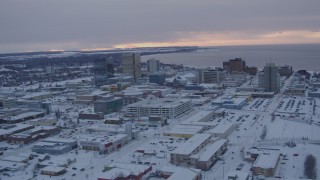
<svg viewBox="0 0 320 180"><path fill-rule="evenodd" d="M242 58L247 66L258 68L272 62L277 66L290 65L294 70L320 72L320 44L211 47L191 53L142 56L142 62L150 58L159 59L163 63L200 67L222 67L223 61Z"/></svg>

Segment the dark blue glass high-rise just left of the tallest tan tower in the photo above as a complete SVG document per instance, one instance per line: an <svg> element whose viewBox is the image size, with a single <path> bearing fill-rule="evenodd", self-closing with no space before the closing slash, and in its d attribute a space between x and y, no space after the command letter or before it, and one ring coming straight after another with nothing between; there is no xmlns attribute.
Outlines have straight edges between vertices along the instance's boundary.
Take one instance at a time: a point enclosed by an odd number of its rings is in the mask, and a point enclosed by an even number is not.
<svg viewBox="0 0 320 180"><path fill-rule="evenodd" d="M100 58L93 61L94 83L102 86L108 84L108 79L114 77L114 61L110 58Z"/></svg>

